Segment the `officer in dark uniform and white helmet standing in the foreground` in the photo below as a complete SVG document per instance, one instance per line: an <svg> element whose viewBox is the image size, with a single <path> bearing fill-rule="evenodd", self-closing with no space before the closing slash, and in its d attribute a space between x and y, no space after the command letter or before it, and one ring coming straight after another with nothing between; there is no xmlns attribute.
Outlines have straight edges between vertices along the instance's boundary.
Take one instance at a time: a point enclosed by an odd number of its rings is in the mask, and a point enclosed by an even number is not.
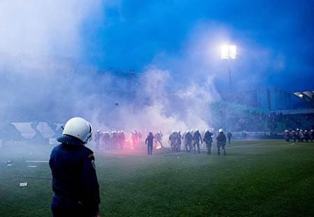
<svg viewBox="0 0 314 217"><path fill-rule="evenodd" d="M62 136L57 138L61 144L52 149L49 161L54 217L100 216L95 158L93 151L84 146L90 138L91 124L80 117L68 120Z"/></svg>

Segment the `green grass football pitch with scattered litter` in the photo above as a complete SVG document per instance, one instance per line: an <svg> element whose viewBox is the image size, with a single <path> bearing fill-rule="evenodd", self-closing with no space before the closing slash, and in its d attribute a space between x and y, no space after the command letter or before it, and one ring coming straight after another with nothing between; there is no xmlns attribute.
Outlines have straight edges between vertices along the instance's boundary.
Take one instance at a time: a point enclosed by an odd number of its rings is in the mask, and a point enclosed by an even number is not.
<svg viewBox="0 0 314 217"><path fill-rule="evenodd" d="M51 216L51 180L27 178L51 178L49 165L25 162L48 160L51 149L0 149L0 216ZM314 143L247 140L228 145L227 156L155 154L96 153L102 216L314 216Z"/></svg>

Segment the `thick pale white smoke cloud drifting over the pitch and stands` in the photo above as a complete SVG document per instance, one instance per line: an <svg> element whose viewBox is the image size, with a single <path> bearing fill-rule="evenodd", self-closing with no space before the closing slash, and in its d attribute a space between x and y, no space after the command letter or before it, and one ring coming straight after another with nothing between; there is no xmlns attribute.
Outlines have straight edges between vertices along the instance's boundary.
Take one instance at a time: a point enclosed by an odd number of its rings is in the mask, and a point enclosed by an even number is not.
<svg viewBox="0 0 314 217"><path fill-rule="evenodd" d="M89 16L102 16L103 6L102 1L1 1L3 126L63 123L75 116L102 130L169 133L211 126L209 103L219 97L215 76L208 74L208 63L199 58L204 53L195 52L200 44L188 43L176 67L152 61L137 74L137 87L130 96L117 94L130 88L119 75L104 75L77 63L84 43L82 23Z"/></svg>

